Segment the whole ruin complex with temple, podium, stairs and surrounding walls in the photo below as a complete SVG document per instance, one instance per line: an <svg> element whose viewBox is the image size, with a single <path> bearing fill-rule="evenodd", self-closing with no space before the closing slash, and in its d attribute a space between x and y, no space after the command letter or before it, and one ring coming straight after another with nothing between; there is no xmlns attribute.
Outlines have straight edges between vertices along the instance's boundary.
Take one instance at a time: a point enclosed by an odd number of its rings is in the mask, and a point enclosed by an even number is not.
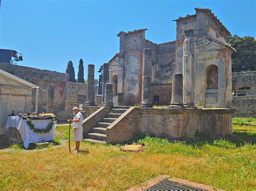
<svg viewBox="0 0 256 191"><path fill-rule="evenodd" d="M119 53L103 65L103 95L96 95L94 65L88 65L87 84L49 70L8 63L0 69L39 87L38 94L31 89L31 111L54 112L64 121L72 107L82 109L83 136L92 142L120 143L139 132L168 139L229 136L232 103L255 105L255 73L234 74L232 88L230 32L210 9L195 10L174 20L176 41L152 43L147 29L118 33Z"/></svg>

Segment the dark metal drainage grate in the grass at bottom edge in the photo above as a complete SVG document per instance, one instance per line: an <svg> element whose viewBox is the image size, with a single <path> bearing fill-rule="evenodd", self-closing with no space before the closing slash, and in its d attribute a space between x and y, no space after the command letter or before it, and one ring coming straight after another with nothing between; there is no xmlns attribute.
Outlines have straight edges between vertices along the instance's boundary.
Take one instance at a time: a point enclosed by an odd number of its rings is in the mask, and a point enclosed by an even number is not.
<svg viewBox="0 0 256 191"><path fill-rule="evenodd" d="M183 185L171 180L162 180L147 190L203 190L193 186Z"/></svg>

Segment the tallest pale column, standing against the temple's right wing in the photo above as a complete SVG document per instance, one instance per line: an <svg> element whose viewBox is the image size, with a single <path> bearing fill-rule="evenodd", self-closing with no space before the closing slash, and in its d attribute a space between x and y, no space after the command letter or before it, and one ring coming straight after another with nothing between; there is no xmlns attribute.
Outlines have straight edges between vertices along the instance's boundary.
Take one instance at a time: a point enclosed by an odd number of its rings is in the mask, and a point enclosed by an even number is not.
<svg viewBox="0 0 256 191"><path fill-rule="evenodd" d="M194 107L195 69L194 69L194 30L184 31L183 45L183 103L187 107Z"/></svg>

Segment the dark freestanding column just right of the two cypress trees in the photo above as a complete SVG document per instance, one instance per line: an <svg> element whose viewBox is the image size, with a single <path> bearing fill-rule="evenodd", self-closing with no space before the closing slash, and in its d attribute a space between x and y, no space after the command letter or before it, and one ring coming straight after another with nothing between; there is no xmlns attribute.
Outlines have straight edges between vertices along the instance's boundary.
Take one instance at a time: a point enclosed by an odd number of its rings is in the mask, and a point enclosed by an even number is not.
<svg viewBox="0 0 256 191"><path fill-rule="evenodd" d="M85 106L95 106L95 79L94 79L94 65L88 65L87 75L87 95Z"/></svg>

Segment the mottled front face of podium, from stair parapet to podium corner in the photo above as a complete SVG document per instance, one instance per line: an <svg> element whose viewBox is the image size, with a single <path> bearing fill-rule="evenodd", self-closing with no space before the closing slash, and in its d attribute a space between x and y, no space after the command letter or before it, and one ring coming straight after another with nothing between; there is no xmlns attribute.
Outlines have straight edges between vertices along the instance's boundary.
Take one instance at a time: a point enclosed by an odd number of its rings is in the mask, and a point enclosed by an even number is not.
<svg viewBox="0 0 256 191"><path fill-rule="evenodd" d="M201 130L201 111L188 109L141 108L140 132L170 140L192 138Z"/></svg>

